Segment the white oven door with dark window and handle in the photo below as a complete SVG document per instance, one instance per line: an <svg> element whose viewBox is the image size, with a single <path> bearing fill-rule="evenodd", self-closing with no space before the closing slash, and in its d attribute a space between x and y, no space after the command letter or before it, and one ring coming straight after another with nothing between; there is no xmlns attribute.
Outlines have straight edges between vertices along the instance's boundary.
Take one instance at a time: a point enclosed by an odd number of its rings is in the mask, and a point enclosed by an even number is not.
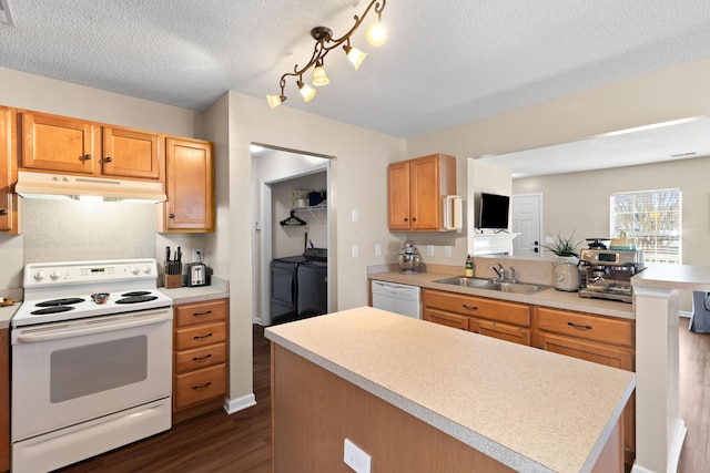
<svg viewBox="0 0 710 473"><path fill-rule="evenodd" d="M172 391L172 309L12 329L12 441Z"/></svg>

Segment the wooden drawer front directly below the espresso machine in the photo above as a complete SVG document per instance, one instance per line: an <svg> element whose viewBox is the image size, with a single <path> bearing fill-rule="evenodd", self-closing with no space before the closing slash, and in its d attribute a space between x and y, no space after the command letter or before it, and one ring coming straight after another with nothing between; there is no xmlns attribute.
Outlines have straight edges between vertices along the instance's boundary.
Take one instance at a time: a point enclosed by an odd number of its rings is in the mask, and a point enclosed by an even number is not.
<svg viewBox="0 0 710 473"><path fill-rule="evenodd" d="M602 343L633 347L633 321L538 307L539 330Z"/></svg>

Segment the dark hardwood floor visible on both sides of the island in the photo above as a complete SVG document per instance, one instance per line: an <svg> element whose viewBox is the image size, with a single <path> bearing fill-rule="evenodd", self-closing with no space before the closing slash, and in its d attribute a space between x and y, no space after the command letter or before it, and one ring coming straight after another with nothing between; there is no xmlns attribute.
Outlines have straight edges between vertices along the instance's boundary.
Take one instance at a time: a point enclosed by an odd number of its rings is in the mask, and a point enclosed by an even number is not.
<svg viewBox="0 0 710 473"><path fill-rule="evenodd" d="M271 353L264 329L254 326L256 405L223 410L182 422L170 431L68 466L62 472L271 473ZM710 335L680 321L681 417L688 436L679 473L710 471Z"/></svg>

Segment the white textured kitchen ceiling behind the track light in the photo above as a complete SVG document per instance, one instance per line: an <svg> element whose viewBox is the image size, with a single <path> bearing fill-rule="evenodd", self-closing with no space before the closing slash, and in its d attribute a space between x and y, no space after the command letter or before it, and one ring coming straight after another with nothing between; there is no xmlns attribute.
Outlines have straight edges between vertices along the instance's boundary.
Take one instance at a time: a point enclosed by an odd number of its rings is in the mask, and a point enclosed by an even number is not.
<svg viewBox="0 0 710 473"><path fill-rule="evenodd" d="M366 1L9 0L0 66L203 111L225 91L264 99ZM283 106L412 137L710 56L708 0L388 0L387 44ZM308 76L304 80L310 81ZM264 101L264 106L266 102ZM277 110L274 112L277 113Z"/></svg>

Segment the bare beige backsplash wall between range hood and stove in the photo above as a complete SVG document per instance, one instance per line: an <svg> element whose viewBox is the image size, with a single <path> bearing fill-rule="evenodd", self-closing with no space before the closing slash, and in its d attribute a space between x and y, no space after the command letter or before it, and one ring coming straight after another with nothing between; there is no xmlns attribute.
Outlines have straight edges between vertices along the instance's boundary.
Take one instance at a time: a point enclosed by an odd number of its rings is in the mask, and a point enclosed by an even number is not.
<svg viewBox="0 0 710 473"><path fill-rule="evenodd" d="M26 199L22 225L24 264L155 257L152 204Z"/></svg>

